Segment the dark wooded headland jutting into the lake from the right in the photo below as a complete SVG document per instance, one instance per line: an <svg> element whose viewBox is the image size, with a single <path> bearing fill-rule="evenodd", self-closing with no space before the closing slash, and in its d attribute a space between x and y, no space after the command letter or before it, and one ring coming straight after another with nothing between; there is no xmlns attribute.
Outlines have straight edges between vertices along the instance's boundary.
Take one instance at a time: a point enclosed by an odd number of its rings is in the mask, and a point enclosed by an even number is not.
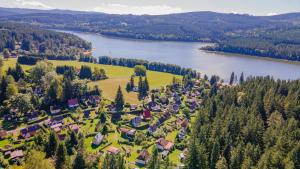
<svg viewBox="0 0 300 169"><path fill-rule="evenodd" d="M249 33L250 34L250 33ZM239 34L238 38L228 38L215 46L204 47L209 51L221 51L300 61L300 29L251 31L258 37Z"/></svg>

